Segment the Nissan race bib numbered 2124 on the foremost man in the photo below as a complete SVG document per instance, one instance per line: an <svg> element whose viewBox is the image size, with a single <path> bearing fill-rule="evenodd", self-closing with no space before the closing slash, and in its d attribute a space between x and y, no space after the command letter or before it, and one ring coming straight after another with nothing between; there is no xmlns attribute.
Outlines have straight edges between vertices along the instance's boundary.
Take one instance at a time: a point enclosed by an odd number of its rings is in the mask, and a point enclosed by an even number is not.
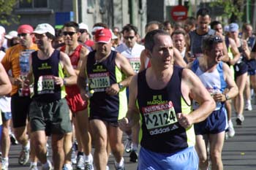
<svg viewBox="0 0 256 170"><path fill-rule="evenodd" d="M166 104L143 107L143 116L146 128L151 135L167 133L178 128L174 125L178 120L171 101Z"/></svg>

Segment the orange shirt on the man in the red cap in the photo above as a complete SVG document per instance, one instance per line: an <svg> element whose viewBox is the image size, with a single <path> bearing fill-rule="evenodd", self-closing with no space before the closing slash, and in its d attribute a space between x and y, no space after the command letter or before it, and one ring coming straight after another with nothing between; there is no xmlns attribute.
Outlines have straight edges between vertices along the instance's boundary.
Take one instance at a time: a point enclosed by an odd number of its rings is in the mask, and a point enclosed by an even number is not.
<svg viewBox="0 0 256 170"><path fill-rule="evenodd" d="M23 47L21 45L15 45L7 49L4 58L1 63L4 66L4 69L8 72L12 70L12 77L20 76L20 53L26 50L38 50L37 45L33 44L30 48ZM11 96L15 93L18 93L18 86L12 85Z"/></svg>

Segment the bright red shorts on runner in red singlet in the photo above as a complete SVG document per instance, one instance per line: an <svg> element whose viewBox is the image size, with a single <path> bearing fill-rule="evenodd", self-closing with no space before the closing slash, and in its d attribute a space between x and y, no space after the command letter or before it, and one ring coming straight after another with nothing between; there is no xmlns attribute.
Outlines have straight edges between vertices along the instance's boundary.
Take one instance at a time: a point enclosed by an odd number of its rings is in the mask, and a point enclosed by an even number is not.
<svg viewBox="0 0 256 170"><path fill-rule="evenodd" d="M76 113L87 108L88 103L87 101L83 101L78 88L72 87L72 90L66 89L66 92L67 104L69 105L69 109L71 109L72 113Z"/></svg>

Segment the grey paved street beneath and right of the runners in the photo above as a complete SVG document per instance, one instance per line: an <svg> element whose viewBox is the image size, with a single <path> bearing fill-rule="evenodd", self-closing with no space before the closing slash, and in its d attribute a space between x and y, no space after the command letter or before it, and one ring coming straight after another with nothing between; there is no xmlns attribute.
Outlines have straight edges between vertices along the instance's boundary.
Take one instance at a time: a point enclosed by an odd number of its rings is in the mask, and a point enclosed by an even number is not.
<svg viewBox="0 0 256 170"><path fill-rule="evenodd" d="M235 117L233 123L236 129L236 136L227 139L222 153L225 170L255 170L256 169L256 106L253 111L245 111L244 125L237 126ZM234 115L234 114L233 114ZM18 152L20 145L12 145L10 152L10 169L27 170L27 166L18 165ZM129 155L125 153L126 169L136 169L136 163L129 163ZM113 157L109 161L110 169L113 167ZM74 166L75 167L75 166Z"/></svg>

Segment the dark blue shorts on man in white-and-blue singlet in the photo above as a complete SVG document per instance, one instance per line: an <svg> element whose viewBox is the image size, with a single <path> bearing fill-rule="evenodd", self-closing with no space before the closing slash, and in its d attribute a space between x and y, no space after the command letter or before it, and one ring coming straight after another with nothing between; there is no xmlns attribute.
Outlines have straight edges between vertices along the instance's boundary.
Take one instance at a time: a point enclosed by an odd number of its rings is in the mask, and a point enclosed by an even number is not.
<svg viewBox="0 0 256 170"><path fill-rule="evenodd" d="M222 107L209 115L203 122L195 123L195 134L219 134L227 128L227 111Z"/></svg>

